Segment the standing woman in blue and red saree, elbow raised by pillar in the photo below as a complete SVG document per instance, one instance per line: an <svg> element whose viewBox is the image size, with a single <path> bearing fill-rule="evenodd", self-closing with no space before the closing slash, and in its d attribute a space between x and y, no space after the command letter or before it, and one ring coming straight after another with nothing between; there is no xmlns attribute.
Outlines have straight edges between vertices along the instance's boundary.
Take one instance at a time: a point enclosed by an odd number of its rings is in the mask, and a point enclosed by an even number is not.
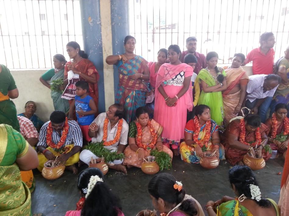
<svg viewBox="0 0 289 216"><path fill-rule="evenodd" d="M146 92L150 79L147 61L134 54L136 39L128 35L124 40L125 53L122 55L107 56L109 65L116 65L119 73L118 93L115 103L120 103L126 111L126 122L136 119L136 109L146 105Z"/></svg>

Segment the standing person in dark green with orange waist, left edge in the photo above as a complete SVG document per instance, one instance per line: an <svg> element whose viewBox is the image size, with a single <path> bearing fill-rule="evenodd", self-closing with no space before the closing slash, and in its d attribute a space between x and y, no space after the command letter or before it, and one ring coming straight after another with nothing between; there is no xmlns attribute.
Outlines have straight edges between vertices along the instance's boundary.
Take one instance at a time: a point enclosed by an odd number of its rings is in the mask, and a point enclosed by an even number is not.
<svg viewBox="0 0 289 216"><path fill-rule="evenodd" d="M16 107L11 99L19 96L13 76L5 65L0 64L0 124L11 125L20 132ZM0 210L1 211L1 210Z"/></svg>

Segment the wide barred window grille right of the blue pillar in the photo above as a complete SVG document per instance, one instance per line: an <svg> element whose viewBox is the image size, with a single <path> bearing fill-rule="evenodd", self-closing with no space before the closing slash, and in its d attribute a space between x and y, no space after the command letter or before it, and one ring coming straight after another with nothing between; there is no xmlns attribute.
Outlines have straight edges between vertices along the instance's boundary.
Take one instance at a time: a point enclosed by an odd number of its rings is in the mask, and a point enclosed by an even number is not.
<svg viewBox="0 0 289 216"><path fill-rule="evenodd" d="M136 37L136 53L148 61L156 61L157 51L171 44L186 50L186 38L196 36L197 52L216 51L219 63L229 63L234 53L246 55L258 47L263 32L273 32L277 60L289 43L288 2L129 0L130 34Z"/></svg>

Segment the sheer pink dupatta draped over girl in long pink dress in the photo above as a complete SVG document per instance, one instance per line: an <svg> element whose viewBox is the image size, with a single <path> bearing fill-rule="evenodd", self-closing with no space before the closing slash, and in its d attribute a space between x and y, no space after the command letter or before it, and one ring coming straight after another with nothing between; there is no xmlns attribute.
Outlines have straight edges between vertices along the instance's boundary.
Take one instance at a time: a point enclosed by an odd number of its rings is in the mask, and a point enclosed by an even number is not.
<svg viewBox="0 0 289 216"><path fill-rule="evenodd" d="M157 88L160 87L160 85L164 85L164 81L174 78L182 71L185 73L189 73L190 74L189 76L192 76L193 74L192 67L185 63L179 65L164 63L162 66L160 66L160 69L157 73L155 100L157 100L157 97L160 95L160 92L158 91ZM186 93L182 97L188 99L186 100L186 106L189 111L192 111L194 106L192 88L189 87L188 91L186 91Z"/></svg>

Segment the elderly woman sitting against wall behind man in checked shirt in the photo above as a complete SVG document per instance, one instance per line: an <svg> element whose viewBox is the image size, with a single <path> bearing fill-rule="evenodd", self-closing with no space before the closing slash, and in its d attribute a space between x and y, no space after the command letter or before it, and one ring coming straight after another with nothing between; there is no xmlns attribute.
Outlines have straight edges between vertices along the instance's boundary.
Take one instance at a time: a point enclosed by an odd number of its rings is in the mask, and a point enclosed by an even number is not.
<svg viewBox="0 0 289 216"><path fill-rule="evenodd" d="M24 116L32 121L34 127L39 132L44 122L34 113L36 112L36 103L34 101L27 101L25 103L25 112L18 114L18 116Z"/></svg>

